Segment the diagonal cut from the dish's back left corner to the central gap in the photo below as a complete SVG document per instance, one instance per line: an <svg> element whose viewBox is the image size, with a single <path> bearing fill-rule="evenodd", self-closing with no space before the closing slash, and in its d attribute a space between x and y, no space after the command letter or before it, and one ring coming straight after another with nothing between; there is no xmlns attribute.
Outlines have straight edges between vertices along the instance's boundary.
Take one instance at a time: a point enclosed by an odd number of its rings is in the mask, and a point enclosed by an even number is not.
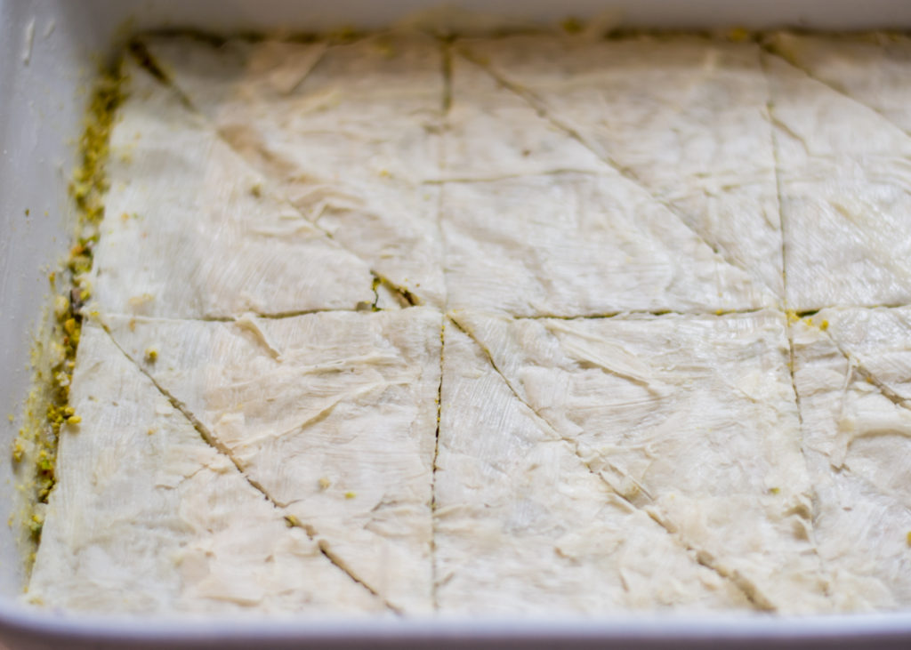
<svg viewBox="0 0 911 650"><path fill-rule="evenodd" d="M322 60L322 57L325 56L325 53L332 47L334 47L334 46L333 45L327 46L322 51L319 58L314 62L313 66L311 67L311 70L313 67L315 67L317 65L317 63L319 63L320 60ZM211 119L208 116L206 116L202 111L200 111L200 109L198 107L196 107L190 101L189 96L186 93L184 93L183 90L174 82L174 80L171 79L170 76L168 76L164 72L164 68L162 68L162 66L160 66L158 61L155 60L155 57L151 55L151 53L148 51L148 48L146 46L144 46L139 41L134 41L128 48L128 54L130 56L133 56L134 60L138 64L138 66L142 67L144 70L146 70L148 72L149 75L153 76L155 78L155 80L161 86L165 86L166 88L169 89L170 92L172 92L172 93L174 93L174 95L178 96L180 103L184 107L186 107L187 110L191 111L197 117L200 117L200 119L205 123L205 125L207 127L209 127L210 132L213 133L215 135L215 137L218 137L220 142L222 142L224 145L229 147L231 151L234 152L235 156L237 156L237 158L241 162L241 164L243 164L247 168L250 168L252 171L254 171L257 175L259 175L261 177L271 178L271 174L266 173L266 171L261 168L253 166L247 160L247 158L243 155L243 153L240 150L238 150L238 148L235 147L234 144L231 143L229 139L224 137L224 134L221 133L220 129L215 127L215 125L212 123ZM307 74L309 75L310 72L308 71ZM342 243L340 243L337 239L335 239L333 237L333 234L329 230L324 229L319 224L318 219L314 221L314 220L306 218L302 214L301 210L298 209L291 202L291 200L289 200L289 198L285 195L284 192L281 192L280 190L278 190L277 188L275 188L273 186L272 188L270 188L270 194L272 195L273 198L276 198L276 199L280 200L282 203L287 204L304 221L311 224L313 226L313 228L318 229L320 232L322 232L322 234L325 235L326 238L328 238L330 241L332 241L334 246L337 246L339 249L342 249L342 250L346 251L347 253L351 254L353 257L363 261L363 263L368 268L370 268L370 272L374 275L374 278L379 279L384 284L384 286L386 286L389 289L393 289L395 293L399 294L399 296L401 296L404 300L408 301L411 305L424 303L424 300L421 300L419 297L415 296L415 294L412 293L411 291L409 291L408 289L404 289L404 287L400 287L399 285L395 284L390 279L386 278L382 273L378 272L376 269L373 269L372 265L366 259L363 259L363 257L361 255L359 255L352 249L349 249L348 247L346 247Z"/></svg>

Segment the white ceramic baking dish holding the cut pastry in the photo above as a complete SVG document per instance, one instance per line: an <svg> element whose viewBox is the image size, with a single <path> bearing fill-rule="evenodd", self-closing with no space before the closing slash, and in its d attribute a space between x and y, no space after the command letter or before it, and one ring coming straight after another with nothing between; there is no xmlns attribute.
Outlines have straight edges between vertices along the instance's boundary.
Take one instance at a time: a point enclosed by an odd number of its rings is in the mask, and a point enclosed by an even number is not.
<svg viewBox="0 0 911 650"><path fill-rule="evenodd" d="M46 303L49 268L68 246L67 179L89 83L118 37L151 27L214 32L377 27L435 0L0 0L0 404L17 415L31 373L29 347ZM782 25L817 29L911 28L908 0L459 0L469 12L517 24L554 24L613 12L629 26L704 28ZM26 215L27 210L27 215ZM15 419L15 418L14 418ZM3 419L0 458L17 421ZM0 515L15 485L0 462ZM0 521L2 521L0 519ZM911 553L911 550L909 550ZM8 647L449 647L618 645L695 647L876 645L911 647L911 613L775 618L609 616L601 620L264 621L87 617L19 602L24 574L14 535L0 526L0 642Z"/></svg>

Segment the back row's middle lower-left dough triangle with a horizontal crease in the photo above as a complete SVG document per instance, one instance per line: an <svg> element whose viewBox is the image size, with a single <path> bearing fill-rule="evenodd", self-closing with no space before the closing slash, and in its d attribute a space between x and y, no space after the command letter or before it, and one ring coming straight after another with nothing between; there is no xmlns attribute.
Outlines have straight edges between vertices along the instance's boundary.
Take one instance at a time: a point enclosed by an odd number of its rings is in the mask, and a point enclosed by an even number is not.
<svg viewBox="0 0 911 650"><path fill-rule="evenodd" d="M640 183L454 50L440 214L450 309L583 316L778 303Z"/></svg>

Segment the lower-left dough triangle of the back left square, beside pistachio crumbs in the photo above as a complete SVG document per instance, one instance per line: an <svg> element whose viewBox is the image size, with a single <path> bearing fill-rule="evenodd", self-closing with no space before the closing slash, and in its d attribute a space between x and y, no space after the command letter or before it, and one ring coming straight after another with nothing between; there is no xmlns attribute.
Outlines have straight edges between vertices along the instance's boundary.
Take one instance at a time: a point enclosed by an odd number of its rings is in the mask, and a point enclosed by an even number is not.
<svg viewBox="0 0 911 650"><path fill-rule="evenodd" d="M244 163L179 96L128 69L95 252L93 309L167 318L347 309L369 267Z"/></svg>

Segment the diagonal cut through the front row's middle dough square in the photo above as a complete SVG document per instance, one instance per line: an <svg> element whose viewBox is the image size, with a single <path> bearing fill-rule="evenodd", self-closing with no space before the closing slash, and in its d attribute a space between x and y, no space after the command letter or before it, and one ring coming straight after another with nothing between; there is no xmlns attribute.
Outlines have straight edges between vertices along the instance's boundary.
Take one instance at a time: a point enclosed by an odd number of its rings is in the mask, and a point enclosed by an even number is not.
<svg viewBox="0 0 911 650"><path fill-rule="evenodd" d="M589 462L586 461L585 456L580 451L580 449L578 447L578 441L576 441L572 438L567 438L562 433L558 432L556 427L554 427L545 417L543 417L540 413L538 413L537 410L534 409L530 404L528 404L527 401L522 399L522 397L516 391L516 388L513 386L512 382L509 381L509 379L507 378L506 374L504 374L503 371L501 371L499 369L499 367L496 365L496 361L494 361L493 355L491 354L490 350L488 350L486 348L486 346L480 340L477 339L477 337L471 330L464 327L462 325L462 323L458 322L458 320L456 320L455 317L453 317L452 315L449 316L449 320L452 321L452 323L455 325L456 328L463 331L468 337L471 338L471 340L473 340L475 342L475 344L481 350L484 351L487 361L489 361L491 367L494 369L494 371L496 371L496 374L498 374L500 376L500 378L506 382L507 387L509 388L509 391L512 392L513 396L519 402L521 402L528 409L528 411L530 411L532 413L532 415L534 415L535 418L537 418L537 421L539 421L550 432L552 432L558 440L567 442L569 444L569 446L572 448L573 452L576 454L578 461L581 462L582 465L587 470L589 470L589 472L591 472L592 474L597 476L601 482L603 482L605 485L607 485L607 487L609 488L609 490L612 493L616 494L625 503L628 503L631 508L633 508L634 510L637 510L641 513L646 514L652 521L654 521L655 523L660 525L661 529L665 533L670 535L670 537L671 537L671 539L673 539L674 543L681 546L681 548L683 548L685 551L688 552L688 556L690 557L692 562L694 562L696 564L700 564L701 566L704 566L705 568L711 570L715 574L718 574L720 577L722 577L722 579L733 584L737 589L739 589L741 591L741 593L743 594L743 597L746 598L746 600L750 604L752 604L753 607L755 607L758 610L762 610L762 611L773 611L775 609L774 604L772 604L767 598L765 598L765 596L763 596L763 594L759 591L759 588L755 584L752 584L752 582L749 579L747 579L745 576L743 576L739 572L736 572L736 571L730 572L730 571L727 571L727 570L723 569L722 567L718 566L716 563L714 563L710 559L709 554L702 552L700 549L692 546L690 543L688 543L686 540L684 540L680 533L672 530L670 525L667 522L662 521L661 518L659 516L657 516L655 513L650 513L648 510L645 510L644 508L637 505L636 503L632 503L630 501L630 499L628 499L623 494L619 493L617 491L617 489L613 485L611 485L601 475L600 472L593 470L591 468ZM601 457L601 454L599 454L599 458L600 457ZM601 458L601 460L607 462L607 460L604 458ZM630 476L628 476L625 472L619 471L618 468L616 468L614 465L610 464L609 462L607 462L607 464L611 468L611 470L613 470L614 472L619 473L620 475L624 476L625 478L629 478L630 481L632 480L632 478ZM695 554L695 557L692 557L690 554Z"/></svg>

